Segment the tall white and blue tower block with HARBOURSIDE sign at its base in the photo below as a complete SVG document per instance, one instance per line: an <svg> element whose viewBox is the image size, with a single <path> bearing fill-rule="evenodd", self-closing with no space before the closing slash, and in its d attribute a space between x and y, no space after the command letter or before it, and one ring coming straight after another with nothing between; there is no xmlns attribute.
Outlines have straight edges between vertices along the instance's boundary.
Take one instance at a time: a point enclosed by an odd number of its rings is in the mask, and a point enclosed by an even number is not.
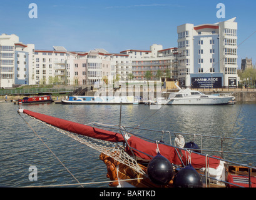
<svg viewBox="0 0 256 200"><path fill-rule="evenodd" d="M178 81L183 87L237 86L237 22L183 24L178 33Z"/></svg>

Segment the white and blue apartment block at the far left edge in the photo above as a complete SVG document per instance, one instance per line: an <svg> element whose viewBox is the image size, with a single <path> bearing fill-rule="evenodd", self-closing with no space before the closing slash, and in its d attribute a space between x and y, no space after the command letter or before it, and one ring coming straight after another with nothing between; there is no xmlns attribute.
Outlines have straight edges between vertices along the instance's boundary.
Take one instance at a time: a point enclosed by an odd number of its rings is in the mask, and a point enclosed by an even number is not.
<svg viewBox="0 0 256 200"><path fill-rule="evenodd" d="M34 44L23 44L15 34L0 36L0 87L29 84L34 67Z"/></svg>

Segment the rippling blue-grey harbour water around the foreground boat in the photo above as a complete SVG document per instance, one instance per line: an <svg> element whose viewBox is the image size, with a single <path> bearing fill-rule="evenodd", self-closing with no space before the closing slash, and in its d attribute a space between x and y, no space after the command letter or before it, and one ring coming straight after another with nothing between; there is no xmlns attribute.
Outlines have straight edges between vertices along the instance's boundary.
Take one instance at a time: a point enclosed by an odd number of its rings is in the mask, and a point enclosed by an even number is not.
<svg viewBox="0 0 256 200"><path fill-rule="evenodd" d="M120 106L118 105L76 106L53 103L22 107L81 124L120 123ZM25 117L24 119L33 127L33 129L29 128L17 110L18 105L0 103L0 186L77 184L74 176L79 183L96 183L87 184L84 187L108 187L108 183L104 182L109 181L106 178L106 166L99 159L98 151L88 148L34 119ZM255 139L256 136L256 104L164 106L158 110L139 104L122 106L121 111L121 124L126 126L140 125L140 128L225 138ZM161 139L161 133L139 132L153 140ZM168 138L169 136L164 136L164 141L168 142ZM195 143L200 144L200 137L190 136L186 142L192 139L195 140ZM203 148L220 149L220 140L218 143L214 143L209 138L208 141L203 142ZM224 151L254 153L256 146L254 141L225 139L223 148ZM59 163L49 149L73 176ZM253 155L224 154L224 157L237 163L251 163L256 166L256 158ZM29 180L30 166L35 166L37 169L37 181Z"/></svg>

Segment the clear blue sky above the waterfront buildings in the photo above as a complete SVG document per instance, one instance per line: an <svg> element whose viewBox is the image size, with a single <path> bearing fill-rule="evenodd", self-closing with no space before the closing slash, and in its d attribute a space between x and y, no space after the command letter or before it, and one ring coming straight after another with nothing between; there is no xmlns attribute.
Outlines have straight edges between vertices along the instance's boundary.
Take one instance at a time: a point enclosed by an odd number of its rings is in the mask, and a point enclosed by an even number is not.
<svg viewBox="0 0 256 200"><path fill-rule="evenodd" d="M218 19L218 3L225 4L225 19ZM31 19L30 3L38 6ZM0 34L16 34L36 49L64 46L69 51L103 48L110 53L148 50L151 44L177 47L177 26L225 21L237 17L238 44L256 31L256 1L9 0L0 4ZM238 47L241 58L256 63L256 34Z"/></svg>

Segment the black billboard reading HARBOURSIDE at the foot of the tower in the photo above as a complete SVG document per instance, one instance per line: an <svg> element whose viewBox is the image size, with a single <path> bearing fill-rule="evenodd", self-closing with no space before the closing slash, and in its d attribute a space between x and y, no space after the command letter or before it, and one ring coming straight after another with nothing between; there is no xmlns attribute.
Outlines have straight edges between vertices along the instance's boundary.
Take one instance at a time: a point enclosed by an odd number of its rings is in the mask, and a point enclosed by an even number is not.
<svg viewBox="0 0 256 200"><path fill-rule="evenodd" d="M222 88L222 77L192 77L193 88Z"/></svg>

